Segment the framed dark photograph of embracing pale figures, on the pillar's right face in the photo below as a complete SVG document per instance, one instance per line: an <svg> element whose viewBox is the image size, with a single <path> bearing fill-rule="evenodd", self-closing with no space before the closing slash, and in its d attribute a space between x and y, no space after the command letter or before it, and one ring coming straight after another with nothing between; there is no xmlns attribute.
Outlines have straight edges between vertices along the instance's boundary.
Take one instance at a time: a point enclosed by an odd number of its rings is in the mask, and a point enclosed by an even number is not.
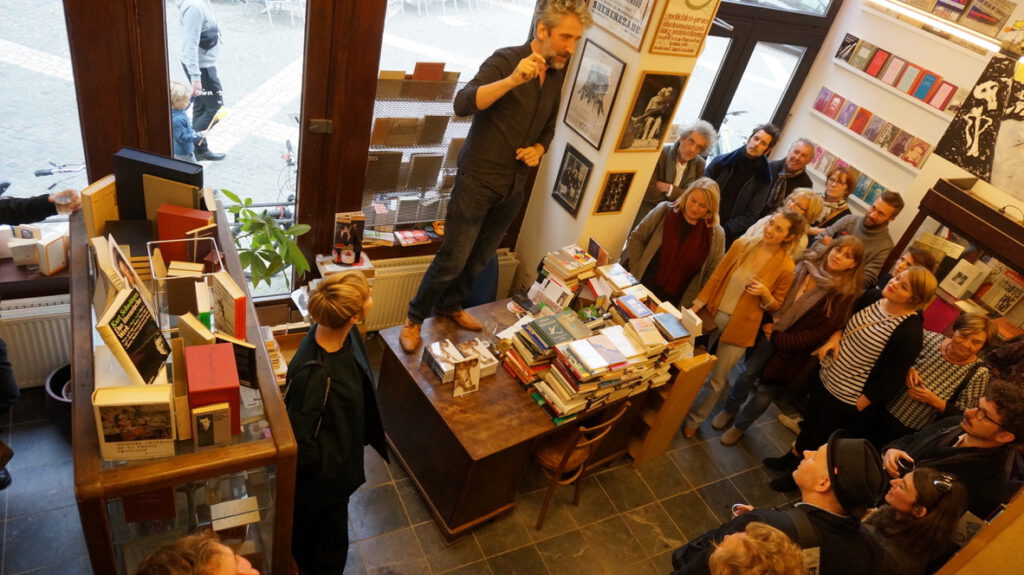
<svg viewBox="0 0 1024 575"><path fill-rule="evenodd" d="M657 151L676 114L685 74L645 72L615 151Z"/></svg>

